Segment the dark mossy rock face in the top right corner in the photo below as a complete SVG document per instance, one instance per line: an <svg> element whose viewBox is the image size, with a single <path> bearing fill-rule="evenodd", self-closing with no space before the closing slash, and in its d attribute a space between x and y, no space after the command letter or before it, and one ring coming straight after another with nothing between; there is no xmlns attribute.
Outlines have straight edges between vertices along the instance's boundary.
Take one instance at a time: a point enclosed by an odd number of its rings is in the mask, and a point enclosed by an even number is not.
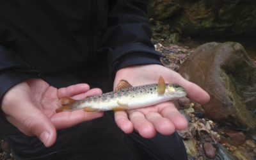
<svg viewBox="0 0 256 160"><path fill-rule="evenodd" d="M170 30L189 36L255 36L253 0L151 0L150 17L170 24Z"/></svg>

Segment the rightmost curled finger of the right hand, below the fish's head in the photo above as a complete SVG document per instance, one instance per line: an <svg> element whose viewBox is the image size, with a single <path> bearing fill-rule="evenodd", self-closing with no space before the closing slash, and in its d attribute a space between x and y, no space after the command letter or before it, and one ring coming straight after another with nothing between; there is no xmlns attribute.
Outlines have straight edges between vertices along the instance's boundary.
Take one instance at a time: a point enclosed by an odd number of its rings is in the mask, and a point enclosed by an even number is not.
<svg viewBox="0 0 256 160"><path fill-rule="evenodd" d="M160 114L170 120L177 130L186 129L186 127L188 127L188 121L179 113L173 104L169 104L169 106L164 107Z"/></svg>

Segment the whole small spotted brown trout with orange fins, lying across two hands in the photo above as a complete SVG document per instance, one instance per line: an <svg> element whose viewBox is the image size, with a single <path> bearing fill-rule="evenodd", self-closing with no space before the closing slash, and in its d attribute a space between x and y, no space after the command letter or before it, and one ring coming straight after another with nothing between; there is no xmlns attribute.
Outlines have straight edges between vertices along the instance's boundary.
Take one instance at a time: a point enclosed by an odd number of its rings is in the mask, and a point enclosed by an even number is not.
<svg viewBox="0 0 256 160"><path fill-rule="evenodd" d="M164 83L163 77L159 77L158 83L132 86L125 80L119 81L113 92L86 97L83 100L74 100L70 97L61 99L61 111L74 111L83 109L86 112L119 111L127 109L144 108L179 99L187 95L185 89L179 84Z"/></svg>

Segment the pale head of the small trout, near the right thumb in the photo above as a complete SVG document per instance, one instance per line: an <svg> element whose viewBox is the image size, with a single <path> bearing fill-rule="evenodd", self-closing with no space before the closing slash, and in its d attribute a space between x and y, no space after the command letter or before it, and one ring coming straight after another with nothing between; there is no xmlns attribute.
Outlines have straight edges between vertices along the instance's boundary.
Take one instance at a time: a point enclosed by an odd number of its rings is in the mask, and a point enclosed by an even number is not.
<svg viewBox="0 0 256 160"><path fill-rule="evenodd" d="M185 89L179 84L166 84L165 93L174 98L180 98L187 95Z"/></svg>

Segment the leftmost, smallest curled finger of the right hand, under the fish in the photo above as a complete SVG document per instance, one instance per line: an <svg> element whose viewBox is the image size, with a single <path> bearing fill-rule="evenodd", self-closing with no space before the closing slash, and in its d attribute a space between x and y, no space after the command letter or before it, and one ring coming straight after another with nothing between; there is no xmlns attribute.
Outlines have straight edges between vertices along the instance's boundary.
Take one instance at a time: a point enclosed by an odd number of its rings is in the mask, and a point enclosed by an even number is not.
<svg viewBox="0 0 256 160"><path fill-rule="evenodd" d="M125 133L129 134L133 131L133 124L128 119L125 111L115 111L115 122L117 126Z"/></svg>

